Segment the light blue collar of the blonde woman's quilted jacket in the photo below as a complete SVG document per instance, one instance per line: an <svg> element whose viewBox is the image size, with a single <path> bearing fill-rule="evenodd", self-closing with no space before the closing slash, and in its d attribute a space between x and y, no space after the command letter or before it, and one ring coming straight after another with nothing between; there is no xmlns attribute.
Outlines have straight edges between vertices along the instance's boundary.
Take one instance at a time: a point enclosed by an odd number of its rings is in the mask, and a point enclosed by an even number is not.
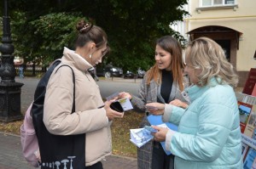
<svg viewBox="0 0 256 169"><path fill-rule="evenodd" d="M185 89L185 92L189 95L190 102L193 102L195 99L199 98L203 93L207 91L210 87L218 85L220 79L212 77L207 86L199 87L197 85L191 85Z"/></svg>

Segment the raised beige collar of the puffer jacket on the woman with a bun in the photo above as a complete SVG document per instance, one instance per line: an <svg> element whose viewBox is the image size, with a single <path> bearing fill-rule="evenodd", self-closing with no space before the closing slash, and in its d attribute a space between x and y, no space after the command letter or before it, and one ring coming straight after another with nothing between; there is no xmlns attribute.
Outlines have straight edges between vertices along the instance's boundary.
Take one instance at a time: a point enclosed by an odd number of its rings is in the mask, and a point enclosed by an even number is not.
<svg viewBox="0 0 256 169"><path fill-rule="evenodd" d="M90 65L82 56L76 54L73 50L64 47L62 60L63 63L67 65L73 65L74 67L78 68L82 71L87 71L91 69L93 66Z"/></svg>

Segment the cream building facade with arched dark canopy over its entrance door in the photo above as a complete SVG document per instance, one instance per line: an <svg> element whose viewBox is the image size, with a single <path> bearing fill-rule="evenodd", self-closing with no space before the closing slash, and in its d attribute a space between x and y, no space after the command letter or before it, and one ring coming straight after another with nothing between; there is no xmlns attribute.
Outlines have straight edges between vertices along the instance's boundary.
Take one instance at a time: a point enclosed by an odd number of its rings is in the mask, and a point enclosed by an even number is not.
<svg viewBox="0 0 256 169"><path fill-rule="evenodd" d="M189 16L180 23L189 41L210 37L224 49L240 76L243 87L251 68L256 68L256 1L189 0Z"/></svg>

